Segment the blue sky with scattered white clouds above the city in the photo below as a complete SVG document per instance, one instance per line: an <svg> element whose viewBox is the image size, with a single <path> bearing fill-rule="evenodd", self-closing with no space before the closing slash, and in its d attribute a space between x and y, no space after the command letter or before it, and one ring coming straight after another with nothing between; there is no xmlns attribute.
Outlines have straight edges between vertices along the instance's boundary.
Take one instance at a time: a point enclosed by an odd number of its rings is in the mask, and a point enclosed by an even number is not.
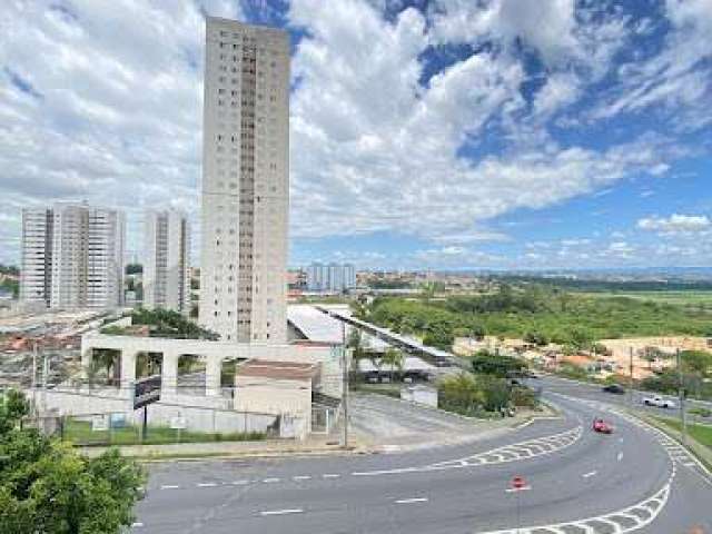
<svg viewBox="0 0 712 534"><path fill-rule="evenodd" d="M712 264L712 0L3 0L0 261L86 199L199 263L205 13L291 34L290 266Z"/></svg>

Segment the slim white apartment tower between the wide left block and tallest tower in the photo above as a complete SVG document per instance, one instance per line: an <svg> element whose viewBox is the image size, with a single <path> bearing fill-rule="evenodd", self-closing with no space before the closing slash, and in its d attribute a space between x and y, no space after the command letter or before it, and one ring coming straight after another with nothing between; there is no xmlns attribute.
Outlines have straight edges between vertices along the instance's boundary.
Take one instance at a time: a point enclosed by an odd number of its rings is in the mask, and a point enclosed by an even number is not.
<svg viewBox="0 0 712 534"><path fill-rule="evenodd" d="M190 226L177 210L147 211L144 228L144 305L190 310Z"/></svg>

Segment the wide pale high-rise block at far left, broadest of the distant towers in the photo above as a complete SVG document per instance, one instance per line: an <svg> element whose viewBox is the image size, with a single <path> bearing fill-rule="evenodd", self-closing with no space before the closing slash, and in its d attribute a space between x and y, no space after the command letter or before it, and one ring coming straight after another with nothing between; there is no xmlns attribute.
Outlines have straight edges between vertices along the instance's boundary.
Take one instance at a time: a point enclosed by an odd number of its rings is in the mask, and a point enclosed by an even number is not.
<svg viewBox="0 0 712 534"><path fill-rule="evenodd" d="M33 300L41 285L50 308L120 306L125 233L123 214L113 209L61 202L50 209L26 210L21 299ZM38 258L41 249L43 266L30 260Z"/></svg>

